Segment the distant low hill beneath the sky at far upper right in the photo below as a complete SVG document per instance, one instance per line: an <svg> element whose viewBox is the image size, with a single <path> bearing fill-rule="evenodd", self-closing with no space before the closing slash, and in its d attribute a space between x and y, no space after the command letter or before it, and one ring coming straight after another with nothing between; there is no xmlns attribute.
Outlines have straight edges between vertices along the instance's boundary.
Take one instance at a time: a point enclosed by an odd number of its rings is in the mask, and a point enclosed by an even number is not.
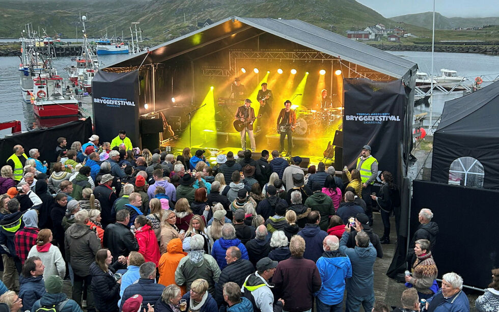
<svg viewBox="0 0 499 312"><path fill-rule="evenodd" d="M433 22L433 12L424 12L417 14L407 14L394 16L390 19L407 24L417 25L431 29ZM435 29L451 30L458 27L481 27L483 25L499 25L499 17L483 17L483 18L464 18L464 17L445 17L440 13L435 12Z"/></svg>

